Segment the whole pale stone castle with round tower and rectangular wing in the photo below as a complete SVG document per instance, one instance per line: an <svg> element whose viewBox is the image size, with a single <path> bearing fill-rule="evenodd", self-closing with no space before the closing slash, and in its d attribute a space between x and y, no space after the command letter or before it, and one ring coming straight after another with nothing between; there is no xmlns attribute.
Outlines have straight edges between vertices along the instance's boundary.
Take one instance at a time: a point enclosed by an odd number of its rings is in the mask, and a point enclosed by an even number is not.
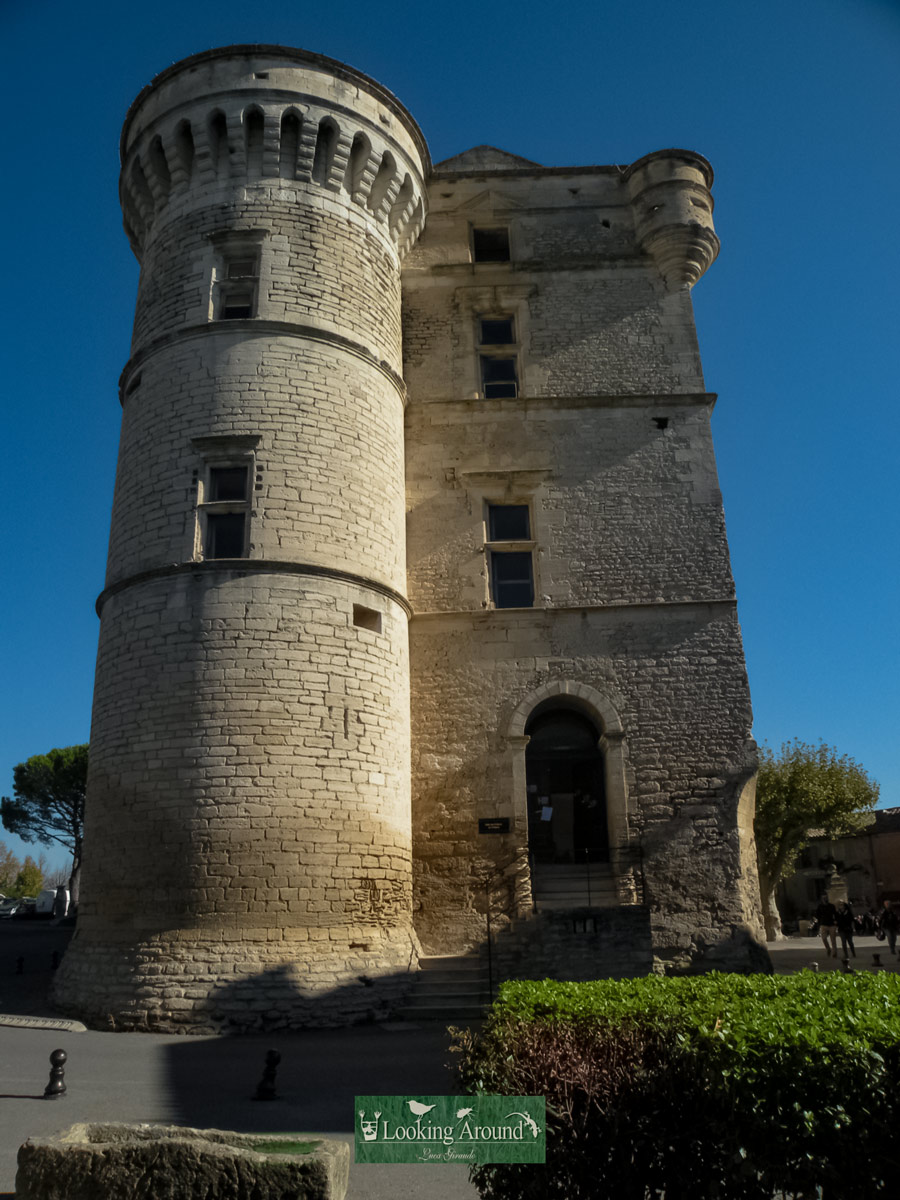
<svg viewBox="0 0 900 1200"><path fill-rule="evenodd" d="M685 150L432 166L277 46L132 104L140 260L58 1002L120 1028L396 1006L422 954L758 962L755 745Z"/></svg>

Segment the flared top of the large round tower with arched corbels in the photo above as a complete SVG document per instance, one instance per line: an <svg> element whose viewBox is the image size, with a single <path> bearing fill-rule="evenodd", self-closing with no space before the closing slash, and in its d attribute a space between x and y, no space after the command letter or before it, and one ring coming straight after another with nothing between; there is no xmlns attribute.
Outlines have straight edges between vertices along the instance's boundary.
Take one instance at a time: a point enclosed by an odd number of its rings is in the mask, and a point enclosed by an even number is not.
<svg viewBox="0 0 900 1200"><path fill-rule="evenodd" d="M138 257L169 214L245 187L322 188L371 214L400 257L425 223L431 163L415 121L380 84L304 50L227 47L169 67L128 110L121 155Z"/></svg>

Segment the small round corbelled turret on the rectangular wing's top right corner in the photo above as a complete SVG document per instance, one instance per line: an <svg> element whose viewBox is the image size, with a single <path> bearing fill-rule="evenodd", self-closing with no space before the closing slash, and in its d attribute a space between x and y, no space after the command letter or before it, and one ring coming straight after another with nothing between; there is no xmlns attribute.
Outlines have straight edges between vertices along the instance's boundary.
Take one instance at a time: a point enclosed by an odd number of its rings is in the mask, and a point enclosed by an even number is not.
<svg viewBox="0 0 900 1200"><path fill-rule="evenodd" d="M713 168L691 150L656 150L625 172L635 230L670 290L691 288L715 260Z"/></svg>

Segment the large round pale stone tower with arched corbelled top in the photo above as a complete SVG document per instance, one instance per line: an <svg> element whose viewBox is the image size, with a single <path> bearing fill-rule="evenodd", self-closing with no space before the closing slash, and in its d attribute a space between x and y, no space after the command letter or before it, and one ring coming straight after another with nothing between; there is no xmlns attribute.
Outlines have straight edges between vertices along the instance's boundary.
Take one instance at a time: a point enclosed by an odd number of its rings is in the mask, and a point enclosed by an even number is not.
<svg viewBox="0 0 900 1200"><path fill-rule="evenodd" d="M337 1024L415 966L400 263L428 154L358 71L210 50L121 139L140 260L58 1001Z"/></svg>

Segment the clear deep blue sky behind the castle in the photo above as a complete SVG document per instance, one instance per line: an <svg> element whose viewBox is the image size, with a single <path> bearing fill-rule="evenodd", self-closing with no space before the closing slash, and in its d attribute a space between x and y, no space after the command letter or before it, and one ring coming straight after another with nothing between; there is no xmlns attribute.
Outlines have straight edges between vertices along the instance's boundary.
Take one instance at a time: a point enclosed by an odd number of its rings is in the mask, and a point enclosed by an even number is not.
<svg viewBox="0 0 900 1200"><path fill-rule="evenodd" d="M138 275L116 193L121 122L170 62L234 42L373 76L434 161L485 142L546 166L665 146L712 161L722 252L694 299L756 737L824 738L900 804L889 0L0 0L2 792L13 763L89 737Z"/></svg>

